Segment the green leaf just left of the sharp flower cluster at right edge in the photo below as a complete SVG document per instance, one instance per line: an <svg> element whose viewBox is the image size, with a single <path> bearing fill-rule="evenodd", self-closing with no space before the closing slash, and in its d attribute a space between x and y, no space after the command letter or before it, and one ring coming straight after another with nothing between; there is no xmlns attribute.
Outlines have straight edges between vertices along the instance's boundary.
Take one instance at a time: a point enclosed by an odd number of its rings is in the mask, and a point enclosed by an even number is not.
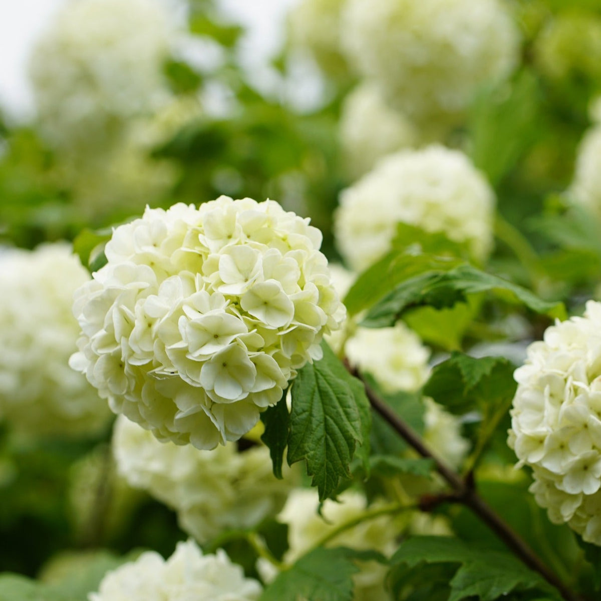
<svg viewBox="0 0 601 601"><path fill-rule="evenodd" d="M517 387L514 369L503 357L477 359L454 352L435 365L424 394L456 415L476 407L490 413L492 407L513 398Z"/></svg>

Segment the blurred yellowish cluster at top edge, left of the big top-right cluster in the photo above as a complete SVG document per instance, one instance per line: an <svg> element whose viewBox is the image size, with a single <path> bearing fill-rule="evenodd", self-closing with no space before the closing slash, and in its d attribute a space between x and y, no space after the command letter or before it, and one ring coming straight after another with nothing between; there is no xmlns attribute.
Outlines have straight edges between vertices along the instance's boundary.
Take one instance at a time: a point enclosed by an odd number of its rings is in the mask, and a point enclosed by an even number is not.
<svg viewBox="0 0 601 601"><path fill-rule="evenodd" d="M308 49L328 75L347 72L340 47L340 12L345 0L302 0L288 14L293 46Z"/></svg>

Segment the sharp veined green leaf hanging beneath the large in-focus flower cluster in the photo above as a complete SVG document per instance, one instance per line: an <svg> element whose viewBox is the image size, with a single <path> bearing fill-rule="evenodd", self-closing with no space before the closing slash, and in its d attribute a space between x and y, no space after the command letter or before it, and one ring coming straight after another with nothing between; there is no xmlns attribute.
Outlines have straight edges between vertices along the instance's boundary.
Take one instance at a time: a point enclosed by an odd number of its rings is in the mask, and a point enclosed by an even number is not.
<svg viewBox="0 0 601 601"><path fill-rule="evenodd" d="M299 370L292 384L288 465L304 459L320 501L335 492L341 478L350 478L357 444L364 443L362 416L368 404L326 343L323 358Z"/></svg>

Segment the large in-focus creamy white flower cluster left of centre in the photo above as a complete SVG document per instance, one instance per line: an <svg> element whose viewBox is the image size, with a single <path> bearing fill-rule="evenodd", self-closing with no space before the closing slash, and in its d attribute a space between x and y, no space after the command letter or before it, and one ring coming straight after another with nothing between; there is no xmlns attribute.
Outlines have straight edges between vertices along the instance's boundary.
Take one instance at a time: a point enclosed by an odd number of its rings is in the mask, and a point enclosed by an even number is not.
<svg viewBox="0 0 601 601"><path fill-rule="evenodd" d="M76 292L72 367L162 441L239 439L344 320L308 221L220 197L116 228L108 263Z"/></svg>

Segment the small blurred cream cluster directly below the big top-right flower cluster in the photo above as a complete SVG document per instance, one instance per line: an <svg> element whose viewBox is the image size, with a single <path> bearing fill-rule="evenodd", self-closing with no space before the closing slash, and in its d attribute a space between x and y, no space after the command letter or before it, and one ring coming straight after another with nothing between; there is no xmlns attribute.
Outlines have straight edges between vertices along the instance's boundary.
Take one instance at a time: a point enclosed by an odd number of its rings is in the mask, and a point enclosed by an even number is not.
<svg viewBox="0 0 601 601"><path fill-rule="evenodd" d="M347 170L356 177L377 159L418 142L415 126L391 109L371 82L363 82L344 99L338 127Z"/></svg>

